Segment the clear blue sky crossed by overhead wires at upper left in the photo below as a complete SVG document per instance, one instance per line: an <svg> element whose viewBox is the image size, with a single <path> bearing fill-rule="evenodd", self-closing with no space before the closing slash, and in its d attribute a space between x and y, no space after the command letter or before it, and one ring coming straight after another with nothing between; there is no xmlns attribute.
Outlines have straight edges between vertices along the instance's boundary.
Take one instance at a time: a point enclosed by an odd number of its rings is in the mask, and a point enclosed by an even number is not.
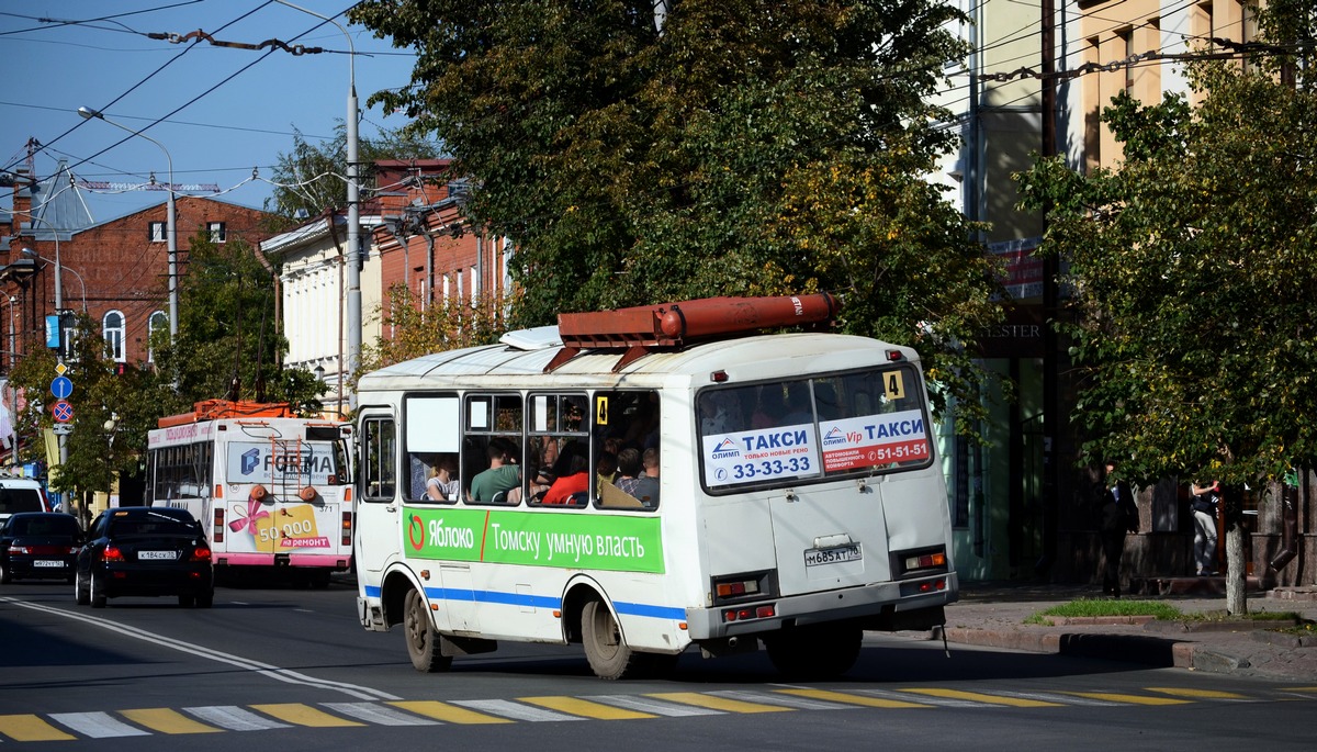
<svg viewBox="0 0 1317 752"><path fill-rule="evenodd" d="M403 116L386 116L366 100L407 86L415 55L349 26L344 13L353 0L294 3L332 17L352 36L361 136L404 125ZM146 37L196 30L229 42L279 40L327 51L292 55ZM173 158L175 183L213 183L228 191L221 200L259 208L273 191L266 180L279 153L292 148L294 129L317 142L346 117L346 51L336 26L269 0L0 0L0 55L9 71L0 88L0 167L22 166L36 138L42 178L65 159L87 180L140 184L153 171L166 180L159 146L83 120L78 108L88 107L159 141ZM162 191L83 195L97 221L165 200ZM9 188L0 188L0 207L11 205Z"/></svg>

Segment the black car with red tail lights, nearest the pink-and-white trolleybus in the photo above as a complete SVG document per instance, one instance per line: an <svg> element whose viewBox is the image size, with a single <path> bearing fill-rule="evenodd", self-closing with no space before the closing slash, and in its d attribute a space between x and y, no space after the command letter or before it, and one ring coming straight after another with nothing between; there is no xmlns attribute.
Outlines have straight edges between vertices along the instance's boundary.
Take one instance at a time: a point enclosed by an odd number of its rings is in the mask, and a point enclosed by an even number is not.
<svg viewBox="0 0 1317 752"><path fill-rule="evenodd" d="M91 523L78 551L74 598L101 608L121 595L176 595L179 606L211 607L211 547L187 510L119 507Z"/></svg>

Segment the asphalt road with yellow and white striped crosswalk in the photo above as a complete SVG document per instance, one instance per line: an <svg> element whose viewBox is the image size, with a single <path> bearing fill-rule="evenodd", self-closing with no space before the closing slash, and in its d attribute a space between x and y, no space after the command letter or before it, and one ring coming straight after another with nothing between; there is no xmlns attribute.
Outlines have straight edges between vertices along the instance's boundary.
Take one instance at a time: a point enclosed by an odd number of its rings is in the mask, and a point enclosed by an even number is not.
<svg viewBox="0 0 1317 752"><path fill-rule="evenodd" d="M1310 748L1310 684L869 636L840 681L786 685L766 657L682 656L605 682L579 647L504 645L446 674L363 631L354 590L221 587L78 607L0 586L0 743L22 748L976 749Z"/></svg>

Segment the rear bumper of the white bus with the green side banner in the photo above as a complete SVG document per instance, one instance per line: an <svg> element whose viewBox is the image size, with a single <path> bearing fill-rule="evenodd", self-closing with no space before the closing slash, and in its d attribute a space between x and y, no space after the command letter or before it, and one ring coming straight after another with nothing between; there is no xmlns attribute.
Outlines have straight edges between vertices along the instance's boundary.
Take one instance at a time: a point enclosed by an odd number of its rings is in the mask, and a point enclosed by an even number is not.
<svg viewBox="0 0 1317 752"><path fill-rule="evenodd" d="M942 589L934 587L938 581L943 582ZM934 578L687 608L686 624L695 641L840 620L857 620L865 630L876 631L928 630L946 622L943 606L956 601L957 590L956 574L950 572ZM731 608L755 611L760 606L772 606L773 616L736 620L723 616Z"/></svg>

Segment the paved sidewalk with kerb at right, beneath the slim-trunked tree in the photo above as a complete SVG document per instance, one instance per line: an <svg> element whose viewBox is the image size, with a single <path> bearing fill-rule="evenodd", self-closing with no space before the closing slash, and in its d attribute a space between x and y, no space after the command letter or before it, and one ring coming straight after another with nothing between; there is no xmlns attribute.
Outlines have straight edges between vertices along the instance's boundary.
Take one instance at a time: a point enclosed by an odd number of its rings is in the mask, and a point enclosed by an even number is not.
<svg viewBox="0 0 1317 752"><path fill-rule="evenodd" d="M1055 626L1025 619L1059 603L1102 598L1085 585L1014 582L963 583L960 601L947 606L947 640L968 645L1063 653L1092 658L1176 666L1189 670L1317 682L1317 631L1296 636L1276 624L1243 619L1156 622L1138 618L1063 620ZM1223 614L1225 594L1130 595L1160 601L1184 614ZM1249 611L1293 611L1317 620L1317 587L1250 591ZM1087 623L1080 623L1087 622ZM1094 623L1096 622L1096 623ZM934 631L932 639L940 635Z"/></svg>

